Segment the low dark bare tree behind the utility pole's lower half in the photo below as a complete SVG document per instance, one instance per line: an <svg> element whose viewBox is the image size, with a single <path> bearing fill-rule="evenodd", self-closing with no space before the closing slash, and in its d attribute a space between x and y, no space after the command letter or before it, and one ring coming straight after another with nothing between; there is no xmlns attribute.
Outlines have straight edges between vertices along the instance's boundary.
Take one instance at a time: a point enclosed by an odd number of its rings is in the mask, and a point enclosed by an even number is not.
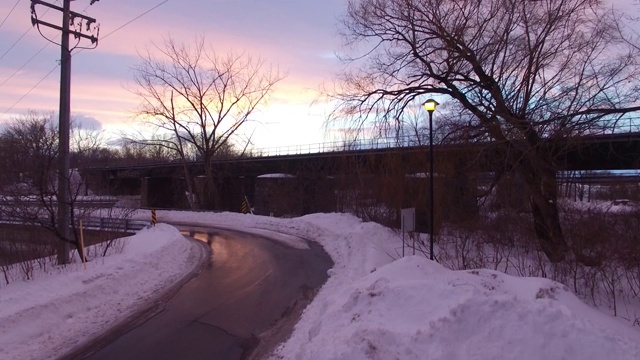
<svg viewBox="0 0 640 360"><path fill-rule="evenodd" d="M86 183L77 170L69 174L72 238L65 238L57 226L58 184L58 129L53 114L30 112L9 123L0 133L0 216L19 220L24 224L38 225L53 234L58 252L68 247L82 254L80 234L75 219L91 216L96 207L78 206L86 195ZM82 130L73 126L71 132L73 166L90 164L97 156L104 155L100 132ZM96 205L99 206L99 205ZM110 212L109 218L128 217L130 211ZM67 256L59 257L68 260Z"/></svg>

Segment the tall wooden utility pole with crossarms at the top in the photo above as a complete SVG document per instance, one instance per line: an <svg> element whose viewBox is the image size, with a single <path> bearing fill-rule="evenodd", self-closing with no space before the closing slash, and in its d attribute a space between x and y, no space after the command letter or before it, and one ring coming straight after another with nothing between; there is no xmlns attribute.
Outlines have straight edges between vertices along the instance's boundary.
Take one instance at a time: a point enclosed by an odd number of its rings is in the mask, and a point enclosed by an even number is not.
<svg viewBox="0 0 640 360"><path fill-rule="evenodd" d="M91 0L90 5L97 0ZM36 5L60 11L62 13L62 26L54 25L38 19ZM78 22L76 22L78 21ZM91 25L96 23L94 18L71 11L71 0L63 0L62 7L46 3L40 0L31 0L31 23L38 28L46 26L61 31L60 41L60 110L58 123L58 189L56 216L56 229L61 238L58 242L58 264L69 263L69 244L71 243L71 196L69 184L69 133L71 118L71 51L78 48L82 39L88 39L92 45L97 46L98 38L94 35L83 34L83 25L86 21L86 31L91 30ZM71 29L71 27L74 27ZM94 27L97 29L97 26ZM42 35L42 32L40 32ZM77 40L71 48L69 36L73 35ZM42 35L45 37L44 35ZM46 37L45 37L46 38ZM49 39L47 39L49 40ZM51 41L51 40L50 40ZM93 48L95 48L93 46ZM85 48L86 49L86 48ZM84 254L82 255L84 256Z"/></svg>

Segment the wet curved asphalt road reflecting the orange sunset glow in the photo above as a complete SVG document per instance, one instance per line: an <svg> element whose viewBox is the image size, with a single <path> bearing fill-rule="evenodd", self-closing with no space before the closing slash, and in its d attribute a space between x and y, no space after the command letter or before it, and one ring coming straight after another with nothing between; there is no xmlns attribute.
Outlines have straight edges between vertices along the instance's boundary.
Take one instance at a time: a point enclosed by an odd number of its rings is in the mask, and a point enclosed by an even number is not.
<svg viewBox="0 0 640 360"><path fill-rule="evenodd" d="M211 262L163 311L88 359L224 360L261 355L286 339L296 313L333 266L312 242L301 250L233 230L178 227L209 244ZM271 335L260 336L268 329Z"/></svg>

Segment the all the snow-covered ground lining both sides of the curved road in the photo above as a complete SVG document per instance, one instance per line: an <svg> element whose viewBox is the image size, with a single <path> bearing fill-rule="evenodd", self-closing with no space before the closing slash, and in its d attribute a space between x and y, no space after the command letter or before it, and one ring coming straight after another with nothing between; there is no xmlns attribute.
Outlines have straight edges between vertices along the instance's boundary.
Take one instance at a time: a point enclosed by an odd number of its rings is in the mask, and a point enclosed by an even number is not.
<svg viewBox="0 0 640 360"><path fill-rule="evenodd" d="M397 233L350 215L158 212L158 220L290 234L289 243L302 237L326 249L329 280L275 359L640 359L640 328L559 283L398 259ZM127 241L87 270L74 264L0 288L0 358L54 358L193 270L197 245L170 226Z"/></svg>

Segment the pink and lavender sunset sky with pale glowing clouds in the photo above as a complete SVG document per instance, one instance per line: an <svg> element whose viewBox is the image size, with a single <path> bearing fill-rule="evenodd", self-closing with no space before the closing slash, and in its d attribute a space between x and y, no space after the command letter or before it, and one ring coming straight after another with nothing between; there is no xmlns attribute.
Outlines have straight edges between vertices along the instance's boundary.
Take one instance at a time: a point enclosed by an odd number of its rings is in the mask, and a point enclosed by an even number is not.
<svg viewBox="0 0 640 360"><path fill-rule="evenodd" d="M89 1L72 2L72 10L86 9L100 24L98 48L76 51L72 61L72 115L83 123L114 135L144 131L134 119L139 101L127 90L134 86L131 67L140 61L138 51L168 35L183 43L204 35L218 53L259 56L287 73L246 128L256 148L333 140L323 130L331 106L319 96L341 66L335 54L343 50L338 22L347 0L100 0L93 6ZM640 6L632 6L637 0L608 2L640 16ZM58 109L60 50L32 28L30 4L0 1L0 125L28 110ZM37 9L40 16L45 8ZM58 14L41 18L59 23Z"/></svg>

